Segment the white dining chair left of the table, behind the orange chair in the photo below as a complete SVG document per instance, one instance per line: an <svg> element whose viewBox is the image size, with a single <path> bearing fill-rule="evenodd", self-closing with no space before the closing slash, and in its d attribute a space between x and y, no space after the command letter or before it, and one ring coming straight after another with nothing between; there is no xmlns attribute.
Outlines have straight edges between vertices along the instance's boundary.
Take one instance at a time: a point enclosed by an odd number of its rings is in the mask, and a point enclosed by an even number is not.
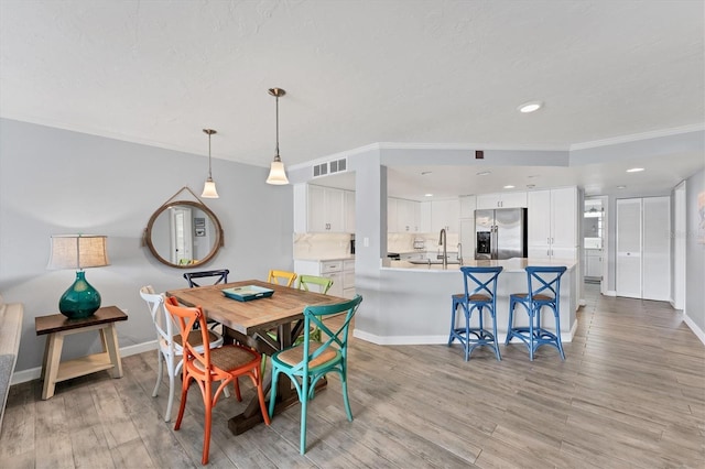
<svg viewBox="0 0 705 469"><path fill-rule="evenodd" d="M174 404L174 381L184 364L182 338L178 334L174 334L177 327L164 307L164 294L154 293L154 288L152 288L151 285L147 285L140 288L140 296L147 302L150 314L152 315L152 321L156 329L156 341L159 343L156 384L154 385L154 391L152 391L152 397L158 396L159 386L162 383L162 375L164 373L163 363L165 362L166 373L169 374L169 403L166 404L166 412L164 413L164 422L170 422L172 417L172 405ZM200 331L194 331L193 336L193 338L191 336L188 337L188 341L192 345L199 345L197 349L203 352ZM223 346L223 336L219 334L209 330L208 337L210 338L210 342L208 343L210 349ZM229 395L226 389L225 396L229 397Z"/></svg>

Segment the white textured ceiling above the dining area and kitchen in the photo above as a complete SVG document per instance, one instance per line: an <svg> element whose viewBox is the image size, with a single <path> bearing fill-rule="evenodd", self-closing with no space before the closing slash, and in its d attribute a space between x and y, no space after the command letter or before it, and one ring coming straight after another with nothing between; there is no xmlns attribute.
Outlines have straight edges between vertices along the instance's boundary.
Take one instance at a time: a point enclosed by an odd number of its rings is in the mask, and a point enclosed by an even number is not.
<svg viewBox="0 0 705 469"><path fill-rule="evenodd" d="M214 157L267 166L281 87L286 165L376 142L570 150L702 127L704 23L690 0L1 0L0 116L200 155L213 128ZM544 107L517 111L530 100ZM703 160L538 176L668 188ZM391 168L390 194L535 184L494 170Z"/></svg>

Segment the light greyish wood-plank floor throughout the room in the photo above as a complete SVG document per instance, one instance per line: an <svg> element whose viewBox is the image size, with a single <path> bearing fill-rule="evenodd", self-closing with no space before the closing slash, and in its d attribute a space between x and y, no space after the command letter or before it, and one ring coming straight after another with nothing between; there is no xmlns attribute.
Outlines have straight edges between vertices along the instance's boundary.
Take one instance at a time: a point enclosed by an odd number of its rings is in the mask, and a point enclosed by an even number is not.
<svg viewBox="0 0 705 469"><path fill-rule="evenodd" d="M349 384L311 404L308 451L299 455L300 407L240 436L226 425L243 404L221 401L210 466L223 468L703 468L705 347L665 303L600 297L565 345L533 363L523 346L501 362L459 346L380 347L352 341ZM448 320L445 307L438 320ZM182 429L162 414L166 381L151 397L155 353L58 383L42 401L39 381L12 386L0 435L0 468L186 468L200 466L203 406L191 394ZM246 400L252 390L245 390ZM174 414L178 406L175 400Z"/></svg>

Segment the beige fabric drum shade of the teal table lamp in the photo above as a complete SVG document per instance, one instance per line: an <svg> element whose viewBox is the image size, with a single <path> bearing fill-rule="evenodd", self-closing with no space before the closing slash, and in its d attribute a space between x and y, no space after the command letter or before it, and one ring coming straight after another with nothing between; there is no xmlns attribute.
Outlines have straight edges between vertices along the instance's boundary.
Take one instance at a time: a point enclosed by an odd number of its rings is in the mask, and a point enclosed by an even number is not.
<svg viewBox="0 0 705 469"><path fill-rule="evenodd" d="M48 269L87 269L109 265L107 238L95 234L53 236Z"/></svg>

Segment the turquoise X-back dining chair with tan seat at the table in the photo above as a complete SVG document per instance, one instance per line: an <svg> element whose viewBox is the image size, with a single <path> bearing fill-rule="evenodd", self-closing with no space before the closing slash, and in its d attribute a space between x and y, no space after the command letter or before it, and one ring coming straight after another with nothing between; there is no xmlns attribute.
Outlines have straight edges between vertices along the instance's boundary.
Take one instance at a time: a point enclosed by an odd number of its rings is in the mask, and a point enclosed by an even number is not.
<svg viewBox="0 0 705 469"><path fill-rule="evenodd" d="M344 303L304 308L304 341L272 356L272 385L269 400L269 415L274 415L276 403L276 382L280 373L289 377L301 401L301 443L300 452L306 452L306 411L308 401L314 397L316 382L326 373L338 373L343 389L343 402L348 421L352 422L352 411L348 400L348 329L350 321L362 302L360 295ZM330 329L324 319L327 316L345 313L340 326ZM325 342L311 339L311 326L314 325L327 335Z"/></svg>

